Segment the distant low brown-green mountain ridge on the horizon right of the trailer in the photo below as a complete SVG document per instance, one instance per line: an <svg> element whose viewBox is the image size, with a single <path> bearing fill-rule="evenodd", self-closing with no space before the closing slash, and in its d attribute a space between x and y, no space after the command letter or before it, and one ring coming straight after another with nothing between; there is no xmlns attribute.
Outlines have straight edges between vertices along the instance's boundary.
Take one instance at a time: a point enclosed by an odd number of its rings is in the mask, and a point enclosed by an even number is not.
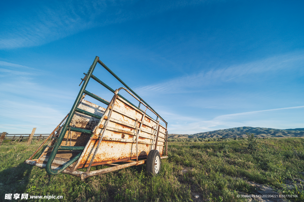
<svg viewBox="0 0 304 202"><path fill-rule="evenodd" d="M253 133L260 138L284 138L284 137L304 137L304 128L295 129L274 129L259 127L238 127L209 132L200 132L192 135L168 134L168 138L245 138L247 133Z"/></svg>

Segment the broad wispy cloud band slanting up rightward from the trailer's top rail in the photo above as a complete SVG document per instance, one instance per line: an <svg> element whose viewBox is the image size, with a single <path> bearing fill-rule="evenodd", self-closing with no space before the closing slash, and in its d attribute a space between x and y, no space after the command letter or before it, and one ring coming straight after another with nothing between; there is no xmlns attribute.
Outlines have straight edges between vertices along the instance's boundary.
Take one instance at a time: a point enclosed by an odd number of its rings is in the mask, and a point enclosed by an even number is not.
<svg viewBox="0 0 304 202"><path fill-rule="evenodd" d="M304 64L303 53L290 53L257 60L245 64L237 64L211 70L203 70L197 74L177 77L159 84L137 87L136 92L140 94L168 94L168 93L191 93L196 92L203 86L226 85L226 82L249 82L248 77L269 72L274 74L277 70L299 69ZM203 68L203 67L202 67ZM257 82L258 76L254 77Z"/></svg>

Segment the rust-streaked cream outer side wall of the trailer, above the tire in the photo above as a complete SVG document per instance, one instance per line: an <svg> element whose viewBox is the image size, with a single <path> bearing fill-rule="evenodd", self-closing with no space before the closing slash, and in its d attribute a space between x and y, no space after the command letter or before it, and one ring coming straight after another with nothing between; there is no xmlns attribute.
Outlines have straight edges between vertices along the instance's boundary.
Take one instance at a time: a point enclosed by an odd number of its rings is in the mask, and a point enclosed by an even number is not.
<svg viewBox="0 0 304 202"><path fill-rule="evenodd" d="M136 159L136 128L139 129L144 113L119 96L115 99L112 110L111 116L102 120L99 129L92 137L93 140L84 151L85 154L80 159L78 168L88 167L108 118L109 123L92 166ZM138 138L139 158L147 157L150 150L154 149L157 125L160 126L157 150L161 155L163 154L166 128L145 115Z"/></svg>

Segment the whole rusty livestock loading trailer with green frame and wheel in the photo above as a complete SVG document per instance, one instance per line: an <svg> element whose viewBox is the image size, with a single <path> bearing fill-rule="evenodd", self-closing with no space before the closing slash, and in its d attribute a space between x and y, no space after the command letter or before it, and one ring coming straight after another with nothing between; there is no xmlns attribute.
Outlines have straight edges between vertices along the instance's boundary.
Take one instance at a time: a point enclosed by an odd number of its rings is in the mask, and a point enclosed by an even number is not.
<svg viewBox="0 0 304 202"><path fill-rule="evenodd" d="M97 63L125 87L114 91L95 77L93 71ZM90 78L114 93L111 101L85 90ZM82 81L84 83L71 111L47 138L52 138L49 145L38 159L32 159L47 142L46 139L24 163L45 168L51 175L62 172L81 177L82 180L140 164L146 164L149 176L156 176L161 169L161 159L168 157L168 123L102 63L98 56ZM120 95L121 90L135 98L139 106ZM85 100L86 95L107 107ZM140 108L141 104L144 109ZM157 118L151 118L147 110ZM98 165L108 167L90 171L91 166ZM86 168L86 171L78 170L81 168Z"/></svg>

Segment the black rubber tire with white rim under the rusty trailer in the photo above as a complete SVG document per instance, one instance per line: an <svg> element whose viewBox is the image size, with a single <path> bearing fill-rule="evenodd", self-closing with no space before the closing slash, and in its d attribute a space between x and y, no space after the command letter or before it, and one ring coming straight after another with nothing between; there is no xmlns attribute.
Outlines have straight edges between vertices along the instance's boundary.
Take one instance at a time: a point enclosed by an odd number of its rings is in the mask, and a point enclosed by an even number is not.
<svg viewBox="0 0 304 202"><path fill-rule="evenodd" d="M157 163L157 165L155 165ZM147 157L146 169L148 176L157 176L161 170L161 155L158 150L151 150Z"/></svg>

